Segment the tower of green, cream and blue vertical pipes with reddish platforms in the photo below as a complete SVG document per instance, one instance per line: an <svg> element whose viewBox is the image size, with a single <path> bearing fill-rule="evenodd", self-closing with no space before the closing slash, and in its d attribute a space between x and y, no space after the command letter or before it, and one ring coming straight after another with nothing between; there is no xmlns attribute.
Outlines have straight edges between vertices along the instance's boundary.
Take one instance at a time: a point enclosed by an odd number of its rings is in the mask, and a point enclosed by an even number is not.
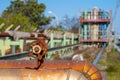
<svg viewBox="0 0 120 80"><path fill-rule="evenodd" d="M94 7L80 16L80 42L85 46L104 46L109 42L110 11Z"/></svg>

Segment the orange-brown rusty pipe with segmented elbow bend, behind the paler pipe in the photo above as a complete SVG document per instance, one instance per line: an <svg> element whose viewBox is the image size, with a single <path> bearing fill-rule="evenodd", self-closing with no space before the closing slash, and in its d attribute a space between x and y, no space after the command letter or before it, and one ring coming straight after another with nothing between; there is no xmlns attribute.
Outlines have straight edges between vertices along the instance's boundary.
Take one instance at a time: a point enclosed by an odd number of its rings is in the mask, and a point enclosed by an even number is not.
<svg viewBox="0 0 120 80"><path fill-rule="evenodd" d="M90 63L88 61L69 61L69 60L45 61L39 70L34 70L33 68L36 66L36 64L37 64L37 62L35 60L34 61L32 61L32 60L31 61L28 61L28 60L1 60L0 68L1 68L1 70L3 69L3 71L6 69L6 71L8 70L8 72L9 72L9 69L12 69L12 70L16 69L16 70L18 70L18 72L19 72L19 70L21 70L21 72L22 72L21 74L24 74L26 72L30 72L30 73L35 72L36 74L40 74L41 69L43 70L43 72L44 71L46 72L46 70L50 69L51 70L50 72L52 74L52 72L54 72L54 70L59 71L59 70L65 70L65 69L72 69L72 70L82 73L82 75L84 75L84 77L89 80L102 80L99 70L92 63ZM24 71L26 71L26 72L24 72ZM59 72L57 72L57 73L59 73ZM63 71L63 73L64 73L64 71ZM0 74L1 74L1 71L0 71ZM26 73L26 74L28 75L28 73ZM46 79L44 79L44 80L46 80ZM63 79L63 80L66 80L66 79Z"/></svg>

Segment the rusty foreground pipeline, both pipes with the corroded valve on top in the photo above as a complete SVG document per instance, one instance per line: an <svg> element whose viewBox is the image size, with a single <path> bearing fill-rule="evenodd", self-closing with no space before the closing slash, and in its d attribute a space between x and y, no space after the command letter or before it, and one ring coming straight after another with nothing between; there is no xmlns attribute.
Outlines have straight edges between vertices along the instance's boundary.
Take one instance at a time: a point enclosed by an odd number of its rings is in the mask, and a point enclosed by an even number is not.
<svg viewBox="0 0 120 80"><path fill-rule="evenodd" d="M102 80L99 70L88 61L45 61L46 36L28 44L28 55L36 60L0 60L1 80Z"/></svg>

